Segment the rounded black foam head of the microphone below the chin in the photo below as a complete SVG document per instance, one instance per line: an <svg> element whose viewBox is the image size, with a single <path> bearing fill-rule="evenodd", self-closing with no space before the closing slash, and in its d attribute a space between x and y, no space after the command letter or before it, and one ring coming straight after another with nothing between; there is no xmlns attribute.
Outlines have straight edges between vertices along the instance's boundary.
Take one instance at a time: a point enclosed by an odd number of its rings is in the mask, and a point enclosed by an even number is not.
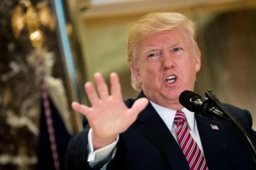
<svg viewBox="0 0 256 170"><path fill-rule="evenodd" d="M193 105L193 101L195 101L195 99L201 99L201 96L189 90L183 91L178 98L180 104L182 104L182 106L187 108L189 111L196 111L196 108Z"/></svg>

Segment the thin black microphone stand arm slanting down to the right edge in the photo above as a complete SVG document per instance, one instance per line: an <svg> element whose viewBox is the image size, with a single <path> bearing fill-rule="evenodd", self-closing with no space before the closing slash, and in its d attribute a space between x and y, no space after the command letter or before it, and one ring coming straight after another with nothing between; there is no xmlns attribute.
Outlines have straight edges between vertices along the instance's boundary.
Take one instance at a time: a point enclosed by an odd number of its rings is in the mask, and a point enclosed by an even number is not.
<svg viewBox="0 0 256 170"><path fill-rule="evenodd" d="M210 99L212 103L214 103L214 105L216 105L219 110L222 111L222 113L221 111L218 111L218 113L214 113L214 111L212 111L215 116L219 116L221 118L224 118L225 120L230 121L231 123L233 123L233 125L235 125L236 128L238 128L241 136L243 137L245 142L247 142L248 147L250 147L253 161L256 164L256 147L243 125L241 125L241 123L236 119L235 116L230 113L230 111L228 111L223 105L221 105L221 102L218 98L216 98L212 91L206 91L206 98Z"/></svg>

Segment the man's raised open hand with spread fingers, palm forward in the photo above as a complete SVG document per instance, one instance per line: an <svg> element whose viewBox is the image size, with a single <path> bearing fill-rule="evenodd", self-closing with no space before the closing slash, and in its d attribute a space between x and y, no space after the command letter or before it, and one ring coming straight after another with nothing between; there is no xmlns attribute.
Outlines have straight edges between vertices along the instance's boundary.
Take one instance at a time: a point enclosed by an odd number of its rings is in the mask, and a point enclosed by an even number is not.
<svg viewBox="0 0 256 170"><path fill-rule="evenodd" d="M137 99L132 108L127 108L122 99L119 77L116 73L110 74L111 94L108 93L102 74L96 73L94 77L98 94L91 82L84 85L91 107L76 101L72 103L72 107L86 116L93 132L93 147L99 149L113 142L117 135L135 122L137 115L148 105L148 99Z"/></svg>

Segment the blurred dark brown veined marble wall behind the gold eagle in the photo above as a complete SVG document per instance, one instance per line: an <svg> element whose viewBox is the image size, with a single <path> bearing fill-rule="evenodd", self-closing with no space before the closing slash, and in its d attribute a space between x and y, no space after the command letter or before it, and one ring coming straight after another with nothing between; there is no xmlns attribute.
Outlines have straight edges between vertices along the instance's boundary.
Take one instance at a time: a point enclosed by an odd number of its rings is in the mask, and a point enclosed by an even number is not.
<svg viewBox="0 0 256 170"><path fill-rule="evenodd" d="M32 1L33 4L38 2ZM18 0L0 1L0 169L35 169L37 164L40 119L38 66L28 60L35 52L28 30L21 31L18 40L13 36L11 12L18 3ZM56 32L46 28L42 31L45 34L45 51L55 61L51 76L63 79Z"/></svg>

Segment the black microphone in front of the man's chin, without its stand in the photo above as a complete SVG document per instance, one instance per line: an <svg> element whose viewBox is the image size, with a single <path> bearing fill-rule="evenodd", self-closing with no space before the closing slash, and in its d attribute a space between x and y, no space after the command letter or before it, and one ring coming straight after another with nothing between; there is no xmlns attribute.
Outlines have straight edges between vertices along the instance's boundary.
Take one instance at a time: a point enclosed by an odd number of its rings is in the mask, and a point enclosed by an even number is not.
<svg viewBox="0 0 256 170"><path fill-rule="evenodd" d="M204 116L211 114L225 118L224 113L214 107L211 99L206 97L202 98L199 94L194 93L193 91L183 91L178 99L180 104L189 111L197 112Z"/></svg>

